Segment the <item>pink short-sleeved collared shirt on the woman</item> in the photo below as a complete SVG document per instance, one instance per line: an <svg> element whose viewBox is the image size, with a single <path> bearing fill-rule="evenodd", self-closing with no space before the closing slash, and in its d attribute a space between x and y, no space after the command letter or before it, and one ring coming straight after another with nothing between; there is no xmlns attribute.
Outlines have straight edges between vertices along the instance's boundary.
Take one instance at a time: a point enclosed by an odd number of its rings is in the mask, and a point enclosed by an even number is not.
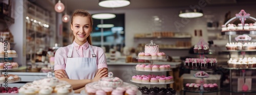
<svg viewBox="0 0 256 95"><path fill-rule="evenodd" d="M72 57L89 57L92 58L92 54L89 48L89 43L86 42L83 45L79 46L75 41L72 43L74 48L72 52ZM68 58L68 52L71 45L66 47L60 47L54 56L54 71L55 70L65 70L66 69L66 62ZM97 66L98 69L100 68L108 68L106 65L106 56L104 50L100 47L91 46L94 54L96 54Z"/></svg>

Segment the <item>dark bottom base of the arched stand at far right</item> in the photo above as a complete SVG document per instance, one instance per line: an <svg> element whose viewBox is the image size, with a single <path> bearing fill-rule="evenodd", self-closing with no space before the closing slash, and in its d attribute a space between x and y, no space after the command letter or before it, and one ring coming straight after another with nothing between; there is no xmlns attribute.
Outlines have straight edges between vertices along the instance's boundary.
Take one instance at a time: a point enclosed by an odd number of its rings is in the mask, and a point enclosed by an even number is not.
<svg viewBox="0 0 256 95"><path fill-rule="evenodd" d="M255 86L255 85L254 85ZM251 86L251 90L248 91L238 91L238 87L237 86L233 86L232 89L228 88L223 88L223 91L226 92L232 92L232 93L256 93L256 88L253 85Z"/></svg>

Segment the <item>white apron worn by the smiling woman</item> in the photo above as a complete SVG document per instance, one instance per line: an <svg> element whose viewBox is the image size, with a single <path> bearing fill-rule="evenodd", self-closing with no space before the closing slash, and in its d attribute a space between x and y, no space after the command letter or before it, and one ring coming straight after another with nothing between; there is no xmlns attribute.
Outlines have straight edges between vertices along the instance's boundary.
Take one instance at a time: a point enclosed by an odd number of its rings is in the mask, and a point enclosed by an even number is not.
<svg viewBox="0 0 256 95"><path fill-rule="evenodd" d="M92 54L92 58L76 57L72 58L73 44L71 45L68 53L68 59L66 63L66 73L69 79L93 79L98 71L96 63L96 55L94 54L91 46L89 49Z"/></svg>

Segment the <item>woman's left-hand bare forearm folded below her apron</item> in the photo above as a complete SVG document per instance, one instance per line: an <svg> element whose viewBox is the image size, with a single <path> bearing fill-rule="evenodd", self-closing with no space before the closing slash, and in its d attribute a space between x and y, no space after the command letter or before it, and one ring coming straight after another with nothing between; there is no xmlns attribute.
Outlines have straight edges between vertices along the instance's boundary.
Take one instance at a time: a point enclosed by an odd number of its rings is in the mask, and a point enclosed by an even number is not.
<svg viewBox="0 0 256 95"><path fill-rule="evenodd" d="M86 84L91 83L91 79L83 79L83 80L73 80L67 78L60 78L59 80L67 81L74 90L84 87Z"/></svg>

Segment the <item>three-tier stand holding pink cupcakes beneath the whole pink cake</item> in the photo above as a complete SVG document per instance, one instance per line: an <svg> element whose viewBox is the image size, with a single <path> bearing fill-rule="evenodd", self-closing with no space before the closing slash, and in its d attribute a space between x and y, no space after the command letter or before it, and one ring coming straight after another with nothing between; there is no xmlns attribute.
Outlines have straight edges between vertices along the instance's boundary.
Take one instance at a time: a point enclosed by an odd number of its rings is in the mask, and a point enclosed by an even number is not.
<svg viewBox="0 0 256 95"><path fill-rule="evenodd" d="M154 61L154 60L165 60L165 59L168 59L168 56L158 57L158 58L139 58L139 57L137 56L136 59L150 60L150 61L151 61L150 64L151 64L151 66L153 66L153 63L154 63L153 61ZM134 70L136 70L136 69L134 69ZM136 71L140 71L140 70L136 70ZM165 71L140 71L140 72L150 72L151 75L153 75L153 72L168 72L168 71L172 71L172 70L165 70ZM149 84L151 88L154 87L153 85L163 85L163 84L174 83L173 80L170 81L170 82L165 82L165 83L150 83L150 82L149 82L149 83L142 83L142 82L136 82L136 81L133 81L133 80L130 80L130 81L131 81L131 82L134 82L134 83L139 83L139 84Z"/></svg>

